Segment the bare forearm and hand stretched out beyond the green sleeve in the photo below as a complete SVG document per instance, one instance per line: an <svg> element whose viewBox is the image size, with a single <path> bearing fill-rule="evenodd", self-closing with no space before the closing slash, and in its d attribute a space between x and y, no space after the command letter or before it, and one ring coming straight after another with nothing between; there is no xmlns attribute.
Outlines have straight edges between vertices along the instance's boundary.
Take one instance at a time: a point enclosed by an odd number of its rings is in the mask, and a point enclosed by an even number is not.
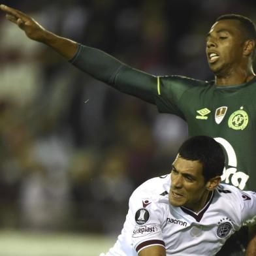
<svg viewBox="0 0 256 256"><path fill-rule="evenodd" d="M42 42L52 49L54 49L58 54L65 57L65 59L71 59L77 50L76 42L59 37L50 31L47 31L38 24L33 18L16 10L14 8L7 7L6 5L0 5L0 9L6 13L6 18L18 25L22 29L27 37L38 42Z"/></svg>

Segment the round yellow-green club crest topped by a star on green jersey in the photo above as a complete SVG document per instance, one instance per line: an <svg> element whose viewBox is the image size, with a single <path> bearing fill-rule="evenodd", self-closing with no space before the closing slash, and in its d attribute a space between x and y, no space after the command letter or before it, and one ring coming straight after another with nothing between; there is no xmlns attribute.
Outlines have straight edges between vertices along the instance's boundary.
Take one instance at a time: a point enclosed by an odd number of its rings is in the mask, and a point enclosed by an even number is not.
<svg viewBox="0 0 256 256"><path fill-rule="evenodd" d="M241 106L240 110L236 110L229 117L228 125L234 130L244 130L248 125L248 114L244 111L244 107Z"/></svg>

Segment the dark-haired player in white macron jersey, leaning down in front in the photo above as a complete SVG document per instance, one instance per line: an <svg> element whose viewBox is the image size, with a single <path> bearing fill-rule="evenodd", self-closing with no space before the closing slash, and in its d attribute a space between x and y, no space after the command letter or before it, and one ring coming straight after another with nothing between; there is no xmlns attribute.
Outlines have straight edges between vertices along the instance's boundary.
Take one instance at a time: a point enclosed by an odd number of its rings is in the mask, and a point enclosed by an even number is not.
<svg viewBox="0 0 256 256"><path fill-rule="evenodd" d="M170 174L133 192L123 230L106 256L216 255L256 216L255 192L220 184L224 162L213 138L186 140Z"/></svg>

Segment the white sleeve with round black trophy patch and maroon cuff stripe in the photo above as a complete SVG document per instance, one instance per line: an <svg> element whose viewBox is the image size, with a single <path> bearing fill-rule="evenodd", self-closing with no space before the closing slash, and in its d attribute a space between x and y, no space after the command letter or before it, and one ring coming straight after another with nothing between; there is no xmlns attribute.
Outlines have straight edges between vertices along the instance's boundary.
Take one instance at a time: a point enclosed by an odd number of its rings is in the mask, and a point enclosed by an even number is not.
<svg viewBox="0 0 256 256"><path fill-rule="evenodd" d="M149 246L165 247L161 230L163 210L152 199L143 197L139 192L135 191L129 200L129 208L133 216L132 242L137 253Z"/></svg>

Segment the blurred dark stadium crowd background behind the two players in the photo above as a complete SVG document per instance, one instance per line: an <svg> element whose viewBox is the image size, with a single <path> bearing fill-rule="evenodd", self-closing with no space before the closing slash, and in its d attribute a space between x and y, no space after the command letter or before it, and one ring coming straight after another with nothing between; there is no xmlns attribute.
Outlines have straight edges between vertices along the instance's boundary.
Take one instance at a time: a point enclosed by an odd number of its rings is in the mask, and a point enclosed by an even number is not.
<svg viewBox="0 0 256 256"><path fill-rule="evenodd" d="M214 77L205 37L221 14L256 21L255 0L1 3L46 29L156 75ZM133 189L170 171L187 127L27 39L0 14L0 255L99 255Z"/></svg>

